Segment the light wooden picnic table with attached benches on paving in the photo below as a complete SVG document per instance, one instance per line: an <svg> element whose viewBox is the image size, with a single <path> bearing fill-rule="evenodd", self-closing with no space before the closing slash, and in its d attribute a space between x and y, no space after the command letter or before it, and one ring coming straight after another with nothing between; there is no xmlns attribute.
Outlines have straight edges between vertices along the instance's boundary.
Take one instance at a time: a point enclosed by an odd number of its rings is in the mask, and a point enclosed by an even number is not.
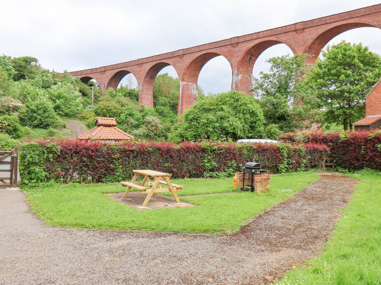
<svg viewBox="0 0 381 285"><path fill-rule="evenodd" d="M184 188L184 186L172 184L171 181L169 180L172 174L150 170L150 169L133 170L133 172L135 175L133 179L131 180L131 182L120 182L122 186L127 187L127 190L123 194L123 197L126 197L128 195L131 188L136 188L140 191L140 193L148 194L147 198L144 200L143 206L147 206L149 199L152 197L152 194L157 195L157 193L159 192L171 192L176 202L180 203L180 200L176 194L176 191L181 191L182 188ZM143 181L135 182L136 179L138 179L139 175L144 176ZM151 181L149 177L152 177L153 181ZM167 185L168 188L162 188L161 186L162 184ZM146 186L150 186L150 188Z"/></svg>

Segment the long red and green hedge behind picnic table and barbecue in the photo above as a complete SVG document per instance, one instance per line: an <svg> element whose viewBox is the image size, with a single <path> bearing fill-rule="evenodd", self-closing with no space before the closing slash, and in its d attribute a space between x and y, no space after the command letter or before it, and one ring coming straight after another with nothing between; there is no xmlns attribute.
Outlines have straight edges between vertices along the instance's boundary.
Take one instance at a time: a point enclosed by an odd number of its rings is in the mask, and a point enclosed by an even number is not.
<svg viewBox="0 0 381 285"><path fill-rule="evenodd" d="M327 151L321 144L307 147L219 142L110 144L45 139L21 144L20 172L25 184L51 179L66 183L128 180L133 169L154 169L178 178L223 177L232 176L247 161L258 161L271 173L306 170L321 165Z"/></svg>

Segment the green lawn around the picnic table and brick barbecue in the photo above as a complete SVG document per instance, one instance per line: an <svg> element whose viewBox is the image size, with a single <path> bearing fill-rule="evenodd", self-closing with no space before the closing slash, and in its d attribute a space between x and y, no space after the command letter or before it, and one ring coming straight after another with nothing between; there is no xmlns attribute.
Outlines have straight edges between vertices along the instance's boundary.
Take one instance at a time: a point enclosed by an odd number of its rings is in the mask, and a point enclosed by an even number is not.
<svg viewBox="0 0 381 285"><path fill-rule="evenodd" d="M104 230L150 230L173 232L221 232L239 225L279 203L319 178L312 172L271 177L271 189L259 195L235 192L226 195L181 198L197 205L152 211L137 211L103 195L124 191L120 184L46 185L28 188L32 211L47 225ZM232 179L174 180L184 186L181 195L232 192Z"/></svg>

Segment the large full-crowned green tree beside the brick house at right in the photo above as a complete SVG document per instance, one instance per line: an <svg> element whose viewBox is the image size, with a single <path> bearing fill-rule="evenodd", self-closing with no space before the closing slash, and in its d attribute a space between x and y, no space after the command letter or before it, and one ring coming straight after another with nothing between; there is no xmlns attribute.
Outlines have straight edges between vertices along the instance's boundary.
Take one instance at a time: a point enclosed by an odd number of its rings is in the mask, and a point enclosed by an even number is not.
<svg viewBox="0 0 381 285"><path fill-rule="evenodd" d="M318 99L315 108L324 110L321 123L339 123L348 130L365 116L365 95L380 76L378 54L361 43L342 41L322 51L302 91Z"/></svg>

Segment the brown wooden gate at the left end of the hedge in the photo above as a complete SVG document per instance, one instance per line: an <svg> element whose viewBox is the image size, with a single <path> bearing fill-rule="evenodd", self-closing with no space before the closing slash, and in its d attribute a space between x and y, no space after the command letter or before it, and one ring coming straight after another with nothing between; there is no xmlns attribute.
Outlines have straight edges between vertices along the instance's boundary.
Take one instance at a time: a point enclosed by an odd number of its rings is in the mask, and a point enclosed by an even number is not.
<svg viewBox="0 0 381 285"><path fill-rule="evenodd" d="M0 150L0 187L17 187L17 154L18 147Z"/></svg>

